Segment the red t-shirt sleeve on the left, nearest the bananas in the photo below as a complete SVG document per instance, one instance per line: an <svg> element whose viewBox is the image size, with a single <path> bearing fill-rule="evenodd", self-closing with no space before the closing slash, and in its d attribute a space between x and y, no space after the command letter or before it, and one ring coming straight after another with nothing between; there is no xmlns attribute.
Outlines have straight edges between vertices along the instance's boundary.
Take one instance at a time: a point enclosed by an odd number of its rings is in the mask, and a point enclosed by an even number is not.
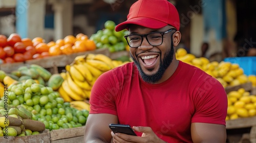
<svg viewBox="0 0 256 143"><path fill-rule="evenodd" d="M90 97L90 113L109 113L117 115L114 95L116 85L112 71L102 74L94 83Z"/></svg>

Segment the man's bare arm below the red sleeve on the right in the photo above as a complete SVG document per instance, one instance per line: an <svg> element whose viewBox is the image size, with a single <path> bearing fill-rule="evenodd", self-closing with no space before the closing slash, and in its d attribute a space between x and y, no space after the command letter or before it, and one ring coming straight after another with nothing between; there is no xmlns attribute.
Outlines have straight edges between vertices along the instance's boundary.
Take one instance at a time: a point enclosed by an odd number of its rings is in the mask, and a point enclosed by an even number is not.
<svg viewBox="0 0 256 143"><path fill-rule="evenodd" d="M226 142L226 127L218 124L192 123L193 142Z"/></svg>

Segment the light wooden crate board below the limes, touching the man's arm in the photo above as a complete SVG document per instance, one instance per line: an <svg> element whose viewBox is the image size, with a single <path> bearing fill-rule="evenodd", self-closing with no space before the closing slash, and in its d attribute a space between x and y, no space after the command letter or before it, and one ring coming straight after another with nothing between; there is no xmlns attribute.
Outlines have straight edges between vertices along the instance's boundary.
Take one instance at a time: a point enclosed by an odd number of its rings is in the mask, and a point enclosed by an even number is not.
<svg viewBox="0 0 256 143"><path fill-rule="evenodd" d="M50 132L52 143L83 142L85 126L69 129L58 129Z"/></svg>

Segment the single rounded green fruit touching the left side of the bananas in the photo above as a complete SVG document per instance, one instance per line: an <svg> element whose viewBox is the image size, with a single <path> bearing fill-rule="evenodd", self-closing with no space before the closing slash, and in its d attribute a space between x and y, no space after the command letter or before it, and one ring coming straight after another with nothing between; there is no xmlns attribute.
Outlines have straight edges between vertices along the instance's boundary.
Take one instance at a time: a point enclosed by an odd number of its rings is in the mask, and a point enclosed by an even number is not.
<svg viewBox="0 0 256 143"><path fill-rule="evenodd" d="M52 87L54 91L57 91L61 86L64 79L61 77L60 74L53 74L48 81L48 86Z"/></svg>

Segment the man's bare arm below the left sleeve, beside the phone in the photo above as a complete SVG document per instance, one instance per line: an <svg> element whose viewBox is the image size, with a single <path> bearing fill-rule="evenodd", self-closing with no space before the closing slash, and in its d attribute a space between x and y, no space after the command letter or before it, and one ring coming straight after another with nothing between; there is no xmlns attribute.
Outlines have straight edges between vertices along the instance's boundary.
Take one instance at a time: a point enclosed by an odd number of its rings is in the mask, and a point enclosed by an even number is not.
<svg viewBox="0 0 256 143"><path fill-rule="evenodd" d="M89 114L84 133L84 142L111 142L109 124L118 124L118 118L112 114Z"/></svg>

